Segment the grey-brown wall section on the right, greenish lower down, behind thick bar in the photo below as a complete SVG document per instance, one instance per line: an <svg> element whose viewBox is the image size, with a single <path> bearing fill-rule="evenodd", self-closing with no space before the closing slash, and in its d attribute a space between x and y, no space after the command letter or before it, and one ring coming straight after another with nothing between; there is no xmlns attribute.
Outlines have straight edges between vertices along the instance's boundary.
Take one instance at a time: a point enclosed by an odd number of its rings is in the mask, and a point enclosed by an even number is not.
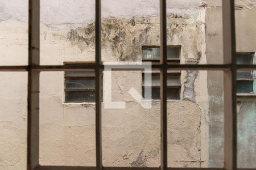
<svg viewBox="0 0 256 170"><path fill-rule="evenodd" d="M205 14L207 62L223 63L221 1L209 0L207 3L209 5ZM255 52L256 1L236 1L236 9L237 52ZM222 167L224 153L223 73L209 71L207 82L210 102L209 167ZM255 146L248 145L252 141L255 143L255 123L247 119L247 117L255 117L254 97L238 97L238 101L240 104L244 103L243 109L238 111L238 166L255 167Z"/></svg>

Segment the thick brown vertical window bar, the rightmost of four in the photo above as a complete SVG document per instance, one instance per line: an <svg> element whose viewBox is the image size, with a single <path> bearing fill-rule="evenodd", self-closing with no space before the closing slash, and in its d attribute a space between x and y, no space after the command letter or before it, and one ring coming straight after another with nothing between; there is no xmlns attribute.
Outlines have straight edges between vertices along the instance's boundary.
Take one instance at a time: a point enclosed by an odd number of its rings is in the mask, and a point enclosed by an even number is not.
<svg viewBox="0 0 256 170"><path fill-rule="evenodd" d="M224 168L237 169L236 32L234 0L222 0L224 64Z"/></svg>

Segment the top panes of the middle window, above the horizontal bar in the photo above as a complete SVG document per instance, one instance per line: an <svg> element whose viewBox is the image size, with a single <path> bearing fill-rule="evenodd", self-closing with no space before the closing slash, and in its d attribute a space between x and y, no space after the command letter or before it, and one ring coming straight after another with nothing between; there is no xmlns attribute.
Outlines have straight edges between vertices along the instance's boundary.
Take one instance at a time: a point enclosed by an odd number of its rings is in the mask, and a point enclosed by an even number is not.
<svg viewBox="0 0 256 170"><path fill-rule="evenodd" d="M142 59L159 60L160 47L142 47ZM180 46L168 46L167 59L180 59Z"/></svg>

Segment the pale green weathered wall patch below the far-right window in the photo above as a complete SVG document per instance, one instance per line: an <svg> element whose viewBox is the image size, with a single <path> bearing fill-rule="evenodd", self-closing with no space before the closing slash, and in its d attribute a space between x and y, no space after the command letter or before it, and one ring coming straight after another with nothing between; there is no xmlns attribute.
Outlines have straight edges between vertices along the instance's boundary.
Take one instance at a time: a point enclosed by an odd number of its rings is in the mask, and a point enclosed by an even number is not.
<svg viewBox="0 0 256 170"><path fill-rule="evenodd" d="M238 167L256 167L256 97L237 97Z"/></svg>

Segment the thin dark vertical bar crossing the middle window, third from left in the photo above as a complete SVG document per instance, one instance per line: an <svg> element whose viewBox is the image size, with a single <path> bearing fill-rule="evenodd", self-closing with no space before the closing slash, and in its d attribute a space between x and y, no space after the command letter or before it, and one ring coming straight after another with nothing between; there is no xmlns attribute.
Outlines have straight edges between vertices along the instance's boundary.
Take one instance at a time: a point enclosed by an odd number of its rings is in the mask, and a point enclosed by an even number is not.
<svg viewBox="0 0 256 170"><path fill-rule="evenodd" d="M167 169L167 37L166 37L166 0L160 0L160 100L161 100L161 170Z"/></svg>

